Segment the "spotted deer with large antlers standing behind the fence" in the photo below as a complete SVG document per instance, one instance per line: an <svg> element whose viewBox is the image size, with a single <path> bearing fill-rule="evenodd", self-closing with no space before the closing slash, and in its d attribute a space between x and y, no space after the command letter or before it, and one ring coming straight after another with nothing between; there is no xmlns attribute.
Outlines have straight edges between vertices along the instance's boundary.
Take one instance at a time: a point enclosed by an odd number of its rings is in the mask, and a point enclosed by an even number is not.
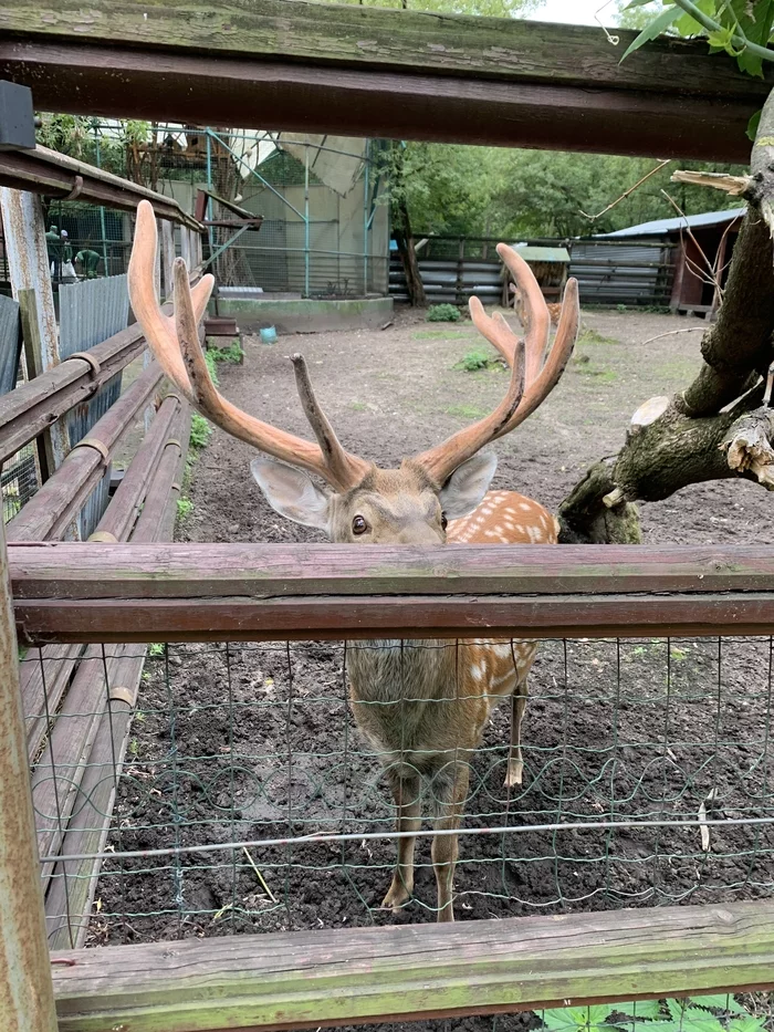
<svg viewBox="0 0 774 1032"><path fill-rule="evenodd" d="M213 279L208 274L189 286L185 261L176 259L175 315L164 315L154 283L156 246L153 209L143 200L128 270L137 321L165 374L191 406L260 452L251 462L252 476L281 515L325 531L334 543L352 545L557 542L557 521L542 504L513 491L489 491L496 468L489 446L522 424L558 383L577 336L576 280L567 281L550 345L551 320L540 286L526 262L500 244L498 253L530 310L525 338L517 338L501 315L489 316L477 298L470 301L470 314L510 366L504 397L488 416L440 445L404 458L397 469L383 469L341 445L301 355L291 361L315 442L263 423L224 398L212 384L198 336ZM436 819L431 858L437 917L454 919L457 833L470 764L494 707L510 699L505 784L521 783L521 725L535 651L534 642L521 639L347 644L355 722L379 754L396 806L397 863L383 908L397 913L411 899L423 785L432 793Z"/></svg>

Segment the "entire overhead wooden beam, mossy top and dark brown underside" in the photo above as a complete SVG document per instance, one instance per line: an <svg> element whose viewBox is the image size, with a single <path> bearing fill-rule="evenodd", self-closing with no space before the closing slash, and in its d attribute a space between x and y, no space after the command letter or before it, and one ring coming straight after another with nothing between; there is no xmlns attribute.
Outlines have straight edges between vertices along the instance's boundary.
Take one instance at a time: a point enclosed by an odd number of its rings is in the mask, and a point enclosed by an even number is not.
<svg viewBox="0 0 774 1032"><path fill-rule="evenodd" d="M0 76L38 108L745 161L771 82L703 42L620 64L598 29L306 0L14 0Z"/></svg>

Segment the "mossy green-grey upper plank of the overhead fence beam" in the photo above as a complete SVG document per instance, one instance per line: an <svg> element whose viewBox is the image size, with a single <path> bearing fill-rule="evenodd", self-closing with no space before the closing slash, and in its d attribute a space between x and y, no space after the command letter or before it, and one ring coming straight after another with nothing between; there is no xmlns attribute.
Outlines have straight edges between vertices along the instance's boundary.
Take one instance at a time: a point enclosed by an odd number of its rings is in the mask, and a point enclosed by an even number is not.
<svg viewBox="0 0 774 1032"><path fill-rule="evenodd" d="M636 32L616 29L618 46L597 28L512 18L419 13L306 0L14 0L0 12L12 38L96 42L160 52L216 53L317 65L380 66L438 75L765 97L766 82L745 77L702 42L661 37L620 64ZM265 119L264 119L265 121Z"/></svg>

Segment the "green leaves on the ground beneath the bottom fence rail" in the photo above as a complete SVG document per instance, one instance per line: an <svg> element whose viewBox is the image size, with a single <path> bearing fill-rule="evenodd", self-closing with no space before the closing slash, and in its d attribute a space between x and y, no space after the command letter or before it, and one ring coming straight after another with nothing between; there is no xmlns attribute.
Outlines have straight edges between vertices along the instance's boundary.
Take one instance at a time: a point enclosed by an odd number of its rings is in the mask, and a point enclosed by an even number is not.
<svg viewBox="0 0 774 1032"><path fill-rule="evenodd" d="M542 1018L550 1032L617 1032L631 1029L632 1019L640 1032L761 1032L764 1028L763 1018L749 1014L725 993L556 1008L544 1011Z"/></svg>

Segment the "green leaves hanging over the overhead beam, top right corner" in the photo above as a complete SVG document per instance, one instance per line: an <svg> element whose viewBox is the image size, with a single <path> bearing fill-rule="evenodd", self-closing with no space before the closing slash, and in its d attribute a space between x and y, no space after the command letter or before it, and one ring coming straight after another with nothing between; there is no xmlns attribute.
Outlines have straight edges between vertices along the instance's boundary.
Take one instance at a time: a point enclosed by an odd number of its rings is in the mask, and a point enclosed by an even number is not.
<svg viewBox="0 0 774 1032"><path fill-rule="evenodd" d="M771 0L665 0L653 7L652 0L631 0L625 11L647 7L650 14L640 34L624 58L662 32L681 37L702 37L712 53L725 52L736 59L742 72L763 77L763 62L774 61L770 50L774 27L774 3ZM639 19L638 19L639 20Z"/></svg>

